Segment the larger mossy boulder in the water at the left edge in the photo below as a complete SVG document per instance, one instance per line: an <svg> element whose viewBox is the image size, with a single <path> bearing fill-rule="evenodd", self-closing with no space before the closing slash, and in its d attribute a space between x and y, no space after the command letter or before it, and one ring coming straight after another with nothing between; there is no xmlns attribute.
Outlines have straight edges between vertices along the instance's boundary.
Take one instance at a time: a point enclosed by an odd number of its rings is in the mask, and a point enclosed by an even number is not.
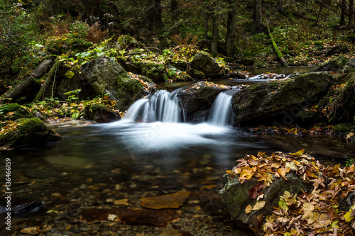
<svg viewBox="0 0 355 236"><path fill-rule="evenodd" d="M39 118L22 118L1 130L0 147L41 147L60 138Z"/></svg>

